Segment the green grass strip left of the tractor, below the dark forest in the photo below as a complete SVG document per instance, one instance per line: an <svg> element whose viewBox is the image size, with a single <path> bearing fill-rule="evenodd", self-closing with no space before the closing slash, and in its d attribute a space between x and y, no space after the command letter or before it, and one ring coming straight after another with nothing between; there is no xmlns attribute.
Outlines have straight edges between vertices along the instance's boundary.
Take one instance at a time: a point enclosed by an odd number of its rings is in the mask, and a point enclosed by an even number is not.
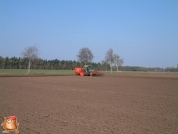
<svg viewBox="0 0 178 134"><path fill-rule="evenodd" d="M27 69L0 69L0 76L27 75ZM31 69L29 75L74 75L74 70L38 70Z"/></svg>

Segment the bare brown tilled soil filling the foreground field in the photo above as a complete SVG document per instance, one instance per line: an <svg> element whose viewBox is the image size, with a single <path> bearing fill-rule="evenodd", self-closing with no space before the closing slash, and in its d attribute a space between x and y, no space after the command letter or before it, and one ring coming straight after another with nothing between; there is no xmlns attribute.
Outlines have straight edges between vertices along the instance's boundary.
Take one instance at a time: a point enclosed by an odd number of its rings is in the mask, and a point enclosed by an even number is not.
<svg viewBox="0 0 178 134"><path fill-rule="evenodd" d="M0 77L0 123L10 115L21 134L177 134L178 78Z"/></svg>

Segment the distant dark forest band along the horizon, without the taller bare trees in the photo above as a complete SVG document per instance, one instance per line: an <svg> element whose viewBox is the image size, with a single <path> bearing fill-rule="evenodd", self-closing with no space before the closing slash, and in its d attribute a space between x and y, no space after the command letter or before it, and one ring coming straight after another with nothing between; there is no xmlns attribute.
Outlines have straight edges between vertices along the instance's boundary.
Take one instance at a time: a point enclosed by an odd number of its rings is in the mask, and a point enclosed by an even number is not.
<svg viewBox="0 0 178 134"><path fill-rule="evenodd" d="M108 71L110 66L102 62L94 63L91 65L96 70ZM83 63L75 60L45 60L38 59L31 64L31 69L48 69L48 70L72 70L74 67L82 67ZM113 71L117 71L117 67L113 66ZM28 59L22 57L2 57L0 56L0 69L28 69ZM146 68L137 66L120 66L120 71L151 71L151 72L177 72L178 68Z"/></svg>

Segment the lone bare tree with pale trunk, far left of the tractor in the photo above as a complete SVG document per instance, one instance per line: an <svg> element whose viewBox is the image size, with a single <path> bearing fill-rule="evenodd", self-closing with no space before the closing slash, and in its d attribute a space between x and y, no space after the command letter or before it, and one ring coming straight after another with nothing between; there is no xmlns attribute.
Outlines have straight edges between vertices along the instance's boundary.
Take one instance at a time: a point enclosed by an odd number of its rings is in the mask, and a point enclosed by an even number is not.
<svg viewBox="0 0 178 134"><path fill-rule="evenodd" d="M35 46L25 48L22 52L24 58L28 59L28 74L30 73L31 63L38 59L38 49Z"/></svg>

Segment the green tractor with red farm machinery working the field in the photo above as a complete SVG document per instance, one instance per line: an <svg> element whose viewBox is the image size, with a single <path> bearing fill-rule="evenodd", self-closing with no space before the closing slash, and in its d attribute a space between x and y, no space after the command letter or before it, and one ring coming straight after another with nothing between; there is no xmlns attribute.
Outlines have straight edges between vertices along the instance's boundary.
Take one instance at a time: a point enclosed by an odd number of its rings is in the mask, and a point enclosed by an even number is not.
<svg viewBox="0 0 178 134"><path fill-rule="evenodd" d="M80 76L102 76L103 73L96 71L93 69L91 65L85 65L84 68L78 68L75 69L75 74Z"/></svg>

